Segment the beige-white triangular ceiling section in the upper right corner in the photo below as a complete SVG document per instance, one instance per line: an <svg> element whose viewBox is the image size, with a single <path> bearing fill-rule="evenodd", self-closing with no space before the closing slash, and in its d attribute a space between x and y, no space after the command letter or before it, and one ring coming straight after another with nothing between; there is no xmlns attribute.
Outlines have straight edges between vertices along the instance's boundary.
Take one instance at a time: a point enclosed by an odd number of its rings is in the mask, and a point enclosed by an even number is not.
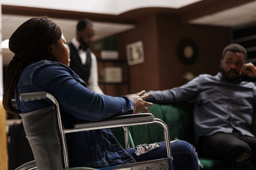
<svg viewBox="0 0 256 170"><path fill-rule="evenodd" d="M191 24L236 27L256 21L256 1L191 20Z"/></svg>

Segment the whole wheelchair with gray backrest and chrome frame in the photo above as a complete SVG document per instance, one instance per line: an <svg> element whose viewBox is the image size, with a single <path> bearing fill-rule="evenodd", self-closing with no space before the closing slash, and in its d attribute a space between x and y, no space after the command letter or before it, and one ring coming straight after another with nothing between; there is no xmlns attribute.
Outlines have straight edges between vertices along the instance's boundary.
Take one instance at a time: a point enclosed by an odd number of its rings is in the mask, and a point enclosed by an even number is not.
<svg viewBox="0 0 256 170"><path fill-rule="evenodd" d="M20 94L20 101L35 101L50 99L52 106L40 108L20 114L24 131L28 138L35 160L17 167L15 170L76 170L95 169L90 167L69 167L68 152L65 134L98 129L124 128L125 146L129 147L128 127L143 124L158 124L163 127L164 141L166 144L167 158L136 162L125 165L101 167L98 169L171 169L173 170L173 157L170 146L168 126L151 113L121 115L107 118L99 122L81 122L72 129L64 129L61 122L60 106L58 101L46 92L33 92Z"/></svg>

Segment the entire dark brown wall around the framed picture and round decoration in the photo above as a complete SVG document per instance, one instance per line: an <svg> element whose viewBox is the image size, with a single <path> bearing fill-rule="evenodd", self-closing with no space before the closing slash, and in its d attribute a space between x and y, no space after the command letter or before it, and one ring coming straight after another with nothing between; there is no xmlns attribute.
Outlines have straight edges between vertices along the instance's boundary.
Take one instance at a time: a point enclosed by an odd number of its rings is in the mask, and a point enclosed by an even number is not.
<svg viewBox="0 0 256 170"><path fill-rule="evenodd" d="M216 74L223 48L230 42L228 27L184 24L177 15L157 14L138 20L136 28L117 35L120 56L126 45L143 41L145 62L129 67L131 92L163 90L183 85L186 72ZM198 58L191 65L177 58L180 39L189 38L198 47Z"/></svg>

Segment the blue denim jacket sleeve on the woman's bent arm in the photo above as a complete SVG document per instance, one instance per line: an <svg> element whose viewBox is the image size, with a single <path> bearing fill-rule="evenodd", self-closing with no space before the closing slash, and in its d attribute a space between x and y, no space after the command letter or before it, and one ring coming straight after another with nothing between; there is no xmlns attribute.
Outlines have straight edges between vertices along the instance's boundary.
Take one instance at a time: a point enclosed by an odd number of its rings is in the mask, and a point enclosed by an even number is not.
<svg viewBox="0 0 256 170"><path fill-rule="evenodd" d="M52 94L61 111L79 120L97 121L114 115L134 113L134 101L127 97L95 94L84 87L62 66L45 66L34 71L33 87Z"/></svg>

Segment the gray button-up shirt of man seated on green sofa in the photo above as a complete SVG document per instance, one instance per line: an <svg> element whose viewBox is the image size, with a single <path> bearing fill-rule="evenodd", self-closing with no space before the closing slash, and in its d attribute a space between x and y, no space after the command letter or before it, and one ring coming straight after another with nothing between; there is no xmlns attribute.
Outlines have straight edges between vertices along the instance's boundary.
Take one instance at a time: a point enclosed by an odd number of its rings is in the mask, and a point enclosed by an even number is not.
<svg viewBox="0 0 256 170"><path fill-rule="evenodd" d="M250 132L256 101L255 84L248 81L230 82L222 73L201 74L181 87L150 91L147 101L153 103L182 103L195 99L194 126L196 142L200 136L216 132L230 133L233 129L246 136Z"/></svg>

